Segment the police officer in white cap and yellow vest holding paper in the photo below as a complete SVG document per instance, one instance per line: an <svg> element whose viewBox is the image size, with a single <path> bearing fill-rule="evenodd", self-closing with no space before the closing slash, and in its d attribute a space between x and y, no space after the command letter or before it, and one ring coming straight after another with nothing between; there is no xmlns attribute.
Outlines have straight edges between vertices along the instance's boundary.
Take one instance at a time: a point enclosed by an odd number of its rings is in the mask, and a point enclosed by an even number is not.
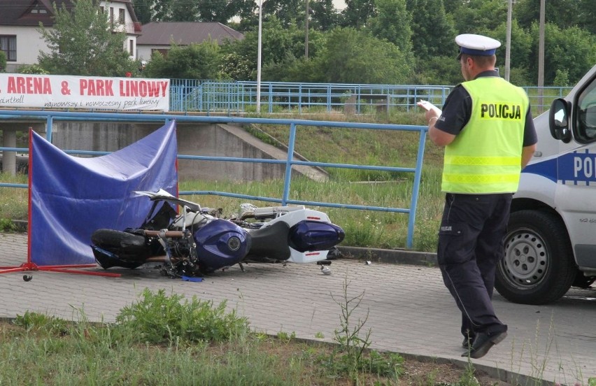
<svg viewBox="0 0 596 386"><path fill-rule="evenodd" d="M527 94L495 70L501 43L474 34L459 35L455 43L465 81L442 112L426 113L430 138L445 147L437 259L462 312L462 357L480 358L507 335L492 307L495 269L504 255L511 197L537 135Z"/></svg>

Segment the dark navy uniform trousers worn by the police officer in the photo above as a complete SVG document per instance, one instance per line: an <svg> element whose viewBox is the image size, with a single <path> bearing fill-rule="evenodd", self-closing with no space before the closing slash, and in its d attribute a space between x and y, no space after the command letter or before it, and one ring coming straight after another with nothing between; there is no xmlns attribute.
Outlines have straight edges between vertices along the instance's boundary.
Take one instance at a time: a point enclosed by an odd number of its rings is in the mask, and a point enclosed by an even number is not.
<svg viewBox="0 0 596 386"><path fill-rule="evenodd" d="M446 194L437 259L462 311L462 334L507 330L492 308L495 269L503 258L513 194Z"/></svg>

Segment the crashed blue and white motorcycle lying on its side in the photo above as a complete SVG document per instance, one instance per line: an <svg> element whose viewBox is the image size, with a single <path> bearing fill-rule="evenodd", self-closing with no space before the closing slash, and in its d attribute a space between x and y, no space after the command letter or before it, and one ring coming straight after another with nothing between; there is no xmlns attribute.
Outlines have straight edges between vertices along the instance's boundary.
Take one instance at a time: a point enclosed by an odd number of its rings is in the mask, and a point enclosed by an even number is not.
<svg viewBox="0 0 596 386"><path fill-rule="evenodd" d="M177 278L235 264L244 270L250 262L317 262L329 273L336 245L345 236L325 213L304 206L243 204L240 213L226 219L222 210L201 208L164 190L136 194L152 201L141 227L92 234L93 255L104 269L156 262L164 276Z"/></svg>

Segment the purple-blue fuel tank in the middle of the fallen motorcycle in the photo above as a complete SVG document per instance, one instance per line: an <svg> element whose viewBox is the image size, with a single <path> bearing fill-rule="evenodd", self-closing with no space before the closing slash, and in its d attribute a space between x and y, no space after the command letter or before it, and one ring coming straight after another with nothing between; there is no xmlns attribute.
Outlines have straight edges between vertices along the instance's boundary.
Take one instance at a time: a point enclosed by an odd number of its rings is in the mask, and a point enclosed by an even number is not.
<svg viewBox="0 0 596 386"><path fill-rule="evenodd" d="M214 219L193 234L201 271L238 264L250 250L250 236L233 222Z"/></svg>

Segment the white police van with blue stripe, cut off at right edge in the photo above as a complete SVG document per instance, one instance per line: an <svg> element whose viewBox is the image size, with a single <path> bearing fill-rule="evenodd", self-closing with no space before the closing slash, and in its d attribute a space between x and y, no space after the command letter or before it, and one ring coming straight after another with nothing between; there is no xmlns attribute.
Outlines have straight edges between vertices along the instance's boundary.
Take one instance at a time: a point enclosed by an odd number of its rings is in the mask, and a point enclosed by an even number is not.
<svg viewBox="0 0 596 386"><path fill-rule="evenodd" d="M596 66L534 124L537 151L513 195L495 288L542 304L596 280Z"/></svg>

